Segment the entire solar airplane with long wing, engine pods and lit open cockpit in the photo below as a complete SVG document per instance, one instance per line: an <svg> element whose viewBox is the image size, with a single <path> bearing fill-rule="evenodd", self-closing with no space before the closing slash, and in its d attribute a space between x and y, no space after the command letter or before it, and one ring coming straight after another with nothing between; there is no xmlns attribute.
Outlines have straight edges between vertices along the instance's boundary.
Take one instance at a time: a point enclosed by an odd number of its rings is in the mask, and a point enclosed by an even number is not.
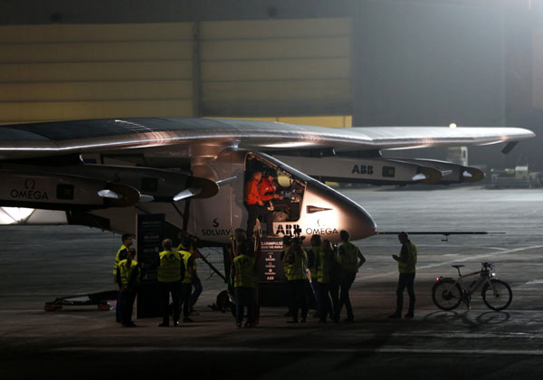
<svg viewBox="0 0 543 380"><path fill-rule="evenodd" d="M338 242L377 233L363 207L315 178L380 185L481 180L474 167L383 157L389 149L507 143L522 128L319 128L234 119L97 119L0 127L0 223L81 224L134 232L136 215L165 214L203 245L245 228L254 170L280 177L274 233ZM296 167L296 168L294 168ZM306 174L304 174L306 173ZM306 241L307 242L307 241Z"/></svg>

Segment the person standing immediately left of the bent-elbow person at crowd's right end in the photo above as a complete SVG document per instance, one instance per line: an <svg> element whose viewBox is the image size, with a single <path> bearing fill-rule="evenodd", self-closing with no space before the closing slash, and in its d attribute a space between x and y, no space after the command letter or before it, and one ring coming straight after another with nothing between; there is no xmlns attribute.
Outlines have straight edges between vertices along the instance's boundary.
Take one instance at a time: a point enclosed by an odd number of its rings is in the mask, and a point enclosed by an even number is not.
<svg viewBox="0 0 543 380"><path fill-rule="evenodd" d="M317 288L319 290L319 322L326 323L327 315L338 323L339 318L339 263L338 252L329 240L322 243L317 256Z"/></svg>

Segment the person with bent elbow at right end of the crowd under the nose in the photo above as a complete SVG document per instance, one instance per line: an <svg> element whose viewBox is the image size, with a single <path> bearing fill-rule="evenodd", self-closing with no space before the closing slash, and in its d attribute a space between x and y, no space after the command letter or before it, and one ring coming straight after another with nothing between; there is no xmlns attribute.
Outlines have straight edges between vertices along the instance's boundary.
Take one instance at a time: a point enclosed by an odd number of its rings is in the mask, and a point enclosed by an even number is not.
<svg viewBox="0 0 543 380"><path fill-rule="evenodd" d="M346 322L353 322L355 316L353 315L353 308L350 303L350 297L348 292L357 277L358 268L362 266L366 259L358 249L358 247L349 242L350 234L347 230L341 230L339 232L339 238L341 239L341 246L339 247L339 268L341 270L341 279L339 280L339 310L338 318L341 314L341 309L343 305L347 309L347 319Z"/></svg>

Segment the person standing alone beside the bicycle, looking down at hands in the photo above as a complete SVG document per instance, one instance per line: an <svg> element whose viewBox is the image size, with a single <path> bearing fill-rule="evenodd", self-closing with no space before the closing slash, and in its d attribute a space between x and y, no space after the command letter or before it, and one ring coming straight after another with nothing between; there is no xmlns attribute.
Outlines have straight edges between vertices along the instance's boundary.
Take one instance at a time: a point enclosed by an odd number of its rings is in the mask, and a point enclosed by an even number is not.
<svg viewBox="0 0 543 380"><path fill-rule="evenodd" d="M416 245L409 240L407 233L398 233L398 240L402 243L400 255L392 255L395 261L398 261L398 288L396 290L396 309L390 318L402 318L402 308L404 307L404 290L407 288L409 294L409 309L405 318L414 317L414 273L416 265Z"/></svg>

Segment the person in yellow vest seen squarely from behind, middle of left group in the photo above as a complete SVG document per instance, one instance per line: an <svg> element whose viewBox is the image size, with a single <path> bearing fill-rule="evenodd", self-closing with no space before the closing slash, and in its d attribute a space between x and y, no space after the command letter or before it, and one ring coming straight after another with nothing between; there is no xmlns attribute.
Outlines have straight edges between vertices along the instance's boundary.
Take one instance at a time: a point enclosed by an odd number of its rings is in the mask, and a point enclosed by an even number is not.
<svg viewBox="0 0 543 380"><path fill-rule="evenodd" d="M174 307L174 326L179 326L179 301L181 296L181 281L185 279L185 262L179 252L172 249L172 241L162 242L163 252L158 253L157 269L158 286L160 288L160 304L162 306L162 323L158 326L169 326L169 296L172 295Z"/></svg>

